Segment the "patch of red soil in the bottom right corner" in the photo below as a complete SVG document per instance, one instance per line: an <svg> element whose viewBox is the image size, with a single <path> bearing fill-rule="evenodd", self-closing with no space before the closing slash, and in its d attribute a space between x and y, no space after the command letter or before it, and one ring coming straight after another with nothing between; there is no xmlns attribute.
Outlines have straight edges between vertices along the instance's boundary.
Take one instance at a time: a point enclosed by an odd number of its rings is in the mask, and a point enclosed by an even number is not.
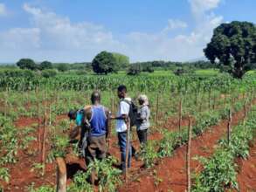
<svg viewBox="0 0 256 192"><path fill-rule="evenodd" d="M248 160L239 163L239 189L240 191L256 191L256 140L250 150Z"/></svg>

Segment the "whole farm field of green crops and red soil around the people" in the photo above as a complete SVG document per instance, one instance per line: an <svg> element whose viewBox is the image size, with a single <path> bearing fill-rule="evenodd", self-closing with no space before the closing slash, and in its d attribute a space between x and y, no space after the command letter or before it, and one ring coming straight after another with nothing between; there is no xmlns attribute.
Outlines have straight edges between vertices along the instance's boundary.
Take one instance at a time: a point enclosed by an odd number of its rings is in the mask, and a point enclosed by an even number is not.
<svg viewBox="0 0 256 192"><path fill-rule="evenodd" d="M154 72L135 77L2 78L1 190L54 191L60 157L66 161L67 191L184 191L189 125L192 191L255 189L255 172L248 172L255 162L255 83L253 72L239 80L211 70L194 76ZM149 96L149 143L140 160L132 160L127 185L117 169L120 152L112 122L109 157L93 165L100 178L93 186L86 182L91 169L79 157L78 141L69 139L74 124L66 113L88 105L94 89L100 90L102 104L116 113L120 84L128 86L133 99L140 93ZM232 134L226 144L229 123ZM131 136L139 150L135 129ZM224 156L229 158L221 159ZM218 170L210 167L219 162Z"/></svg>

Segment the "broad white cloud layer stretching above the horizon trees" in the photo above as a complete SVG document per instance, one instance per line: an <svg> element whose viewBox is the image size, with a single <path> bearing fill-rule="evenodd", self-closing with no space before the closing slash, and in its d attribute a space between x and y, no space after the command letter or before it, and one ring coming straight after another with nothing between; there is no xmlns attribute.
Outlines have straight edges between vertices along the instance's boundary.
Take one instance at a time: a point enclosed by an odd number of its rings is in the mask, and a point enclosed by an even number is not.
<svg viewBox="0 0 256 192"><path fill-rule="evenodd" d="M178 34L176 31L183 31L190 24L179 18L169 18L161 31L131 31L121 34L121 38L114 37L112 31L101 25L86 21L72 23L68 17L24 3L22 9L30 17L31 27L0 31L0 62L13 62L19 58L53 62L90 61L103 50L124 53L131 61L201 58L212 30L224 22L222 16L214 14L220 1L188 0L196 23L188 35L172 35L173 31ZM6 14L6 6L0 3L0 17Z"/></svg>

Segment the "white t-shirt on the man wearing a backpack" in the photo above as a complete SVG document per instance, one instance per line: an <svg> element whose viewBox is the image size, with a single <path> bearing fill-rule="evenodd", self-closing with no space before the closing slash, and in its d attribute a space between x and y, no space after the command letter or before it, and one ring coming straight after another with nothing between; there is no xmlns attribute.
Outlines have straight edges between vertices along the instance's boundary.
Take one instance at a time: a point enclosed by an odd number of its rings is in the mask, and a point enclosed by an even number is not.
<svg viewBox="0 0 256 192"><path fill-rule="evenodd" d="M125 98L128 101L131 101L130 98ZM126 101L121 100L119 109L117 111L116 116L120 117L121 114L127 114L129 113L130 106ZM116 132L124 132L127 130L127 125L124 120L116 120L116 126L115 126Z"/></svg>

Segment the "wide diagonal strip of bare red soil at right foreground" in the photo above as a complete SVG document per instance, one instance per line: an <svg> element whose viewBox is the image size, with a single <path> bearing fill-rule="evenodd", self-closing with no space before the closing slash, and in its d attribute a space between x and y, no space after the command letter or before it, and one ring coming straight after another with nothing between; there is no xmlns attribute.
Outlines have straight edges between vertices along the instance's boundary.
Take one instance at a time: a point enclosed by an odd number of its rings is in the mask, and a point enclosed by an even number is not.
<svg viewBox="0 0 256 192"><path fill-rule="evenodd" d="M232 125L239 123L244 116L241 111L233 116ZM200 155L209 157L214 152L218 139L226 133L227 120L222 120L218 126L211 127L203 135L191 141L192 157ZM164 158L161 164L152 171L145 172L138 181L131 181L128 187L123 186L120 191L185 191L186 190L186 146L179 147L173 157ZM191 171L198 171L201 165L198 161L191 160ZM158 182L157 182L158 181ZM160 181L160 182L159 182Z"/></svg>

